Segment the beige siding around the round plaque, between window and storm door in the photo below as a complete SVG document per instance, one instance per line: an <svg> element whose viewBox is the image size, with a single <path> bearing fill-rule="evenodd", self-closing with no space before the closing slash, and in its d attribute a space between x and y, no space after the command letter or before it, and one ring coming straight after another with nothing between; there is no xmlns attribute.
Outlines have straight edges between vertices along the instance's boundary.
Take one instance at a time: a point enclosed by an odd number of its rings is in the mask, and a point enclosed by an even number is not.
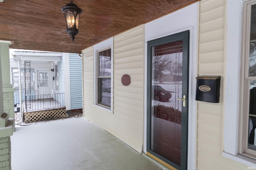
<svg viewBox="0 0 256 170"><path fill-rule="evenodd" d="M144 27L140 25L114 37L114 115L127 134L121 138L138 152L143 143ZM123 86L121 78L129 74L131 83Z"/></svg>

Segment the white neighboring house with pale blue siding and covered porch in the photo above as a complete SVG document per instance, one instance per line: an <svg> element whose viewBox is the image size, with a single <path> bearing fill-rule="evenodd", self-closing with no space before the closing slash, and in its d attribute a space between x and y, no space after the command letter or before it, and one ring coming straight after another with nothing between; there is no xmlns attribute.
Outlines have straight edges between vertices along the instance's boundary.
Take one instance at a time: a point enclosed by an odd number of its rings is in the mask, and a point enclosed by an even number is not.
<svg viewBox="0 0 256 170"><path fill-rule="evenodd" d="M14 51L12 56L10 80L15 88L14 104L19 106L22 99L22 113L58 107L65 107L68 113L82 111L82 59L78 54ZM44 101L42 107L37 106L40 102L28 103L35 99Z"/></svg>

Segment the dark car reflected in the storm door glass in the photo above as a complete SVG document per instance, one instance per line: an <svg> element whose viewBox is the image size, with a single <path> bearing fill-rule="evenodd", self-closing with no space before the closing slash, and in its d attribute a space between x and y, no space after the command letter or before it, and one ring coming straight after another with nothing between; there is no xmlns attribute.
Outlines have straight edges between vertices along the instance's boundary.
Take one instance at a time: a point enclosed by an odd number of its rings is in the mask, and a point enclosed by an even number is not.
<svg viewBox="0 0 256 170"><path fill-rule="evenodd" d="M152 85L152 94L154 90L154 100L160 101L160 102L167 102L171 97L172 93L168 90L165 90L159 85Z"/></svg>

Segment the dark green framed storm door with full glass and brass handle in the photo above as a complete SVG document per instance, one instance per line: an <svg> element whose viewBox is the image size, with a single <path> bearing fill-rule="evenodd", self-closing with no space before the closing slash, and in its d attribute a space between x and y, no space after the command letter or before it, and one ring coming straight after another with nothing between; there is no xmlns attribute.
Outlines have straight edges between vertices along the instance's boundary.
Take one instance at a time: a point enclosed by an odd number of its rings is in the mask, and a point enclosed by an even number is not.
<svg viewBox="0 0 256 170"><path fill-rule="evenodd" d="M148 41L147 152L187 169L189 31Z"/></svg>

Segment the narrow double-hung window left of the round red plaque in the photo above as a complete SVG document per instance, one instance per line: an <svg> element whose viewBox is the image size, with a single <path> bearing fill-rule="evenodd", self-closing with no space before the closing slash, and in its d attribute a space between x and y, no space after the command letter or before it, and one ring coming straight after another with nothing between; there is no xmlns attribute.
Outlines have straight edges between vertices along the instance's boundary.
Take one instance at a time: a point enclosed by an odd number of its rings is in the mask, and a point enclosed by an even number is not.
<svg viewBox="0 0 256 170"><path fill-rule="evenodd" d="M111 48L98 51L97 57L97 104L111 107Z"/></svg>

